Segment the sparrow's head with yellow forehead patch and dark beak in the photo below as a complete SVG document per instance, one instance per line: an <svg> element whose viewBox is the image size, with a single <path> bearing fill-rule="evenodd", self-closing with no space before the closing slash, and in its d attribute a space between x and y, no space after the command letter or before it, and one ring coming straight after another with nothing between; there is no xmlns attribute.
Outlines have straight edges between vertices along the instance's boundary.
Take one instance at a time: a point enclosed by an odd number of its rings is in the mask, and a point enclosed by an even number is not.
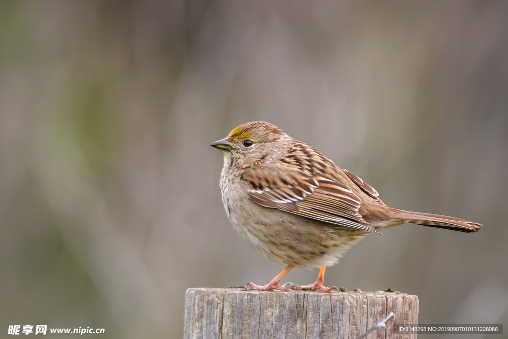
<svg viewBox="0 0 508 339"><path fill-rule="evenodd" d="M210 144L224 151L225 163L245 168L280 159L290 146L291 138L266 121L252 121L233 129L229 135Z"/></svg>

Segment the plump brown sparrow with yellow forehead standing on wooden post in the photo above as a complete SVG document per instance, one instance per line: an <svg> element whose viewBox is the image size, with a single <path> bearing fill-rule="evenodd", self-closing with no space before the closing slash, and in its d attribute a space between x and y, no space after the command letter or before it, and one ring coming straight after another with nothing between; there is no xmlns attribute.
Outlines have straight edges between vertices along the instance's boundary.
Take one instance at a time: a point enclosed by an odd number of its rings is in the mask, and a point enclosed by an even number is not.
<svg viewBox="0 0 508 339"><path fill-rule="evenodd" d="M220 193L233 228L260 254L287 265L269 284L246 290L331 292L323 285L334 265L369 233L412 223L460 232L481 224L388 207L367 182L275 125L253 121L211 146L224 153ZM280 286L293 267L320 267L315 283Z"/></svg>

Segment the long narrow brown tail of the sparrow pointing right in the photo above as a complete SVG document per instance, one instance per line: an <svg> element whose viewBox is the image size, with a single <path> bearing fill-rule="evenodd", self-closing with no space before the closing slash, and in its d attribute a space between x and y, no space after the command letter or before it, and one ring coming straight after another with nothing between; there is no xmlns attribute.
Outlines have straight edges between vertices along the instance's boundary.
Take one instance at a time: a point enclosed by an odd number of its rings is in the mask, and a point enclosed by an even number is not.
<svg viewBox="0 0 508 339"><path fill-rule="evenodd" d="M389 208L388 221L411 223L423 226L446 228L448 230L454 230L459 232L478 232L483 226L482 224L473 223L472 221L447 217L446 215L429 214L404 211L396 208Z"/></svg>

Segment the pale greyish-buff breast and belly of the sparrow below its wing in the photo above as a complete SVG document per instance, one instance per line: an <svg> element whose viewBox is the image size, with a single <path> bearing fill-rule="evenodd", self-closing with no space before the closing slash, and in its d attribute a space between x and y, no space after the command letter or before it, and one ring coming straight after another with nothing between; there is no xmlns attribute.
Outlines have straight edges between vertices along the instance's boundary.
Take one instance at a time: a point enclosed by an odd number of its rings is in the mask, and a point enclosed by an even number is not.
<svg viewBox="0 0 508 339"><path fill-rule="evenodd" d="M301 268L331 266L368 234L257 205L237 184L229 184L227 188L221 184L221 193L233 228L259 253L276 263Z"/></svg>

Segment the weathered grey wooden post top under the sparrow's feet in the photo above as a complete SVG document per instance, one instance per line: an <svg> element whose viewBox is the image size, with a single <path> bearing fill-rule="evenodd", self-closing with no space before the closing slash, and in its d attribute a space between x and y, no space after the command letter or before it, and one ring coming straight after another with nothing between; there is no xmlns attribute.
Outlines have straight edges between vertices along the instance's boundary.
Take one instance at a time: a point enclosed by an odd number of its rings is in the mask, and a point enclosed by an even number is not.
<svg viewBox="0 0 508 339"><path fill-rule="evenodd" d="M395 334L394 324L418 324L418 297L408 294L311 291L259 292L191 288L185 295L184 339L353 338L382 321L373 338Z"/></svg>

